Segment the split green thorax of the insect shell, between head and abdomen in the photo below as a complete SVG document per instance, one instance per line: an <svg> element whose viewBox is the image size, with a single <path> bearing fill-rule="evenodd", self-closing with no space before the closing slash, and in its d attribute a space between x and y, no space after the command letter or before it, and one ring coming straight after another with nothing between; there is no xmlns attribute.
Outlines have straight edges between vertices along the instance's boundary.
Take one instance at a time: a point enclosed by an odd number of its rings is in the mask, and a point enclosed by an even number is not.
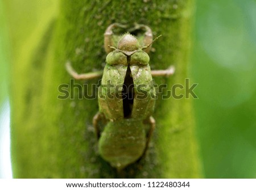
<svg viewBox="0 0 256 190"><path fill-rule="evenodd" d="M135 37L127 34L120 41L126 40L127 36L136 40ZM150 86L152 75L148 65L149 57L142 49L133 50L133 52L134 54L129 56L127 55L129 52L125 54L123 50L115 49L106 57L106 66L99 90L102 94L98 97L98 100L100 112L104 113L109 120L127 117L145 119L152 114L155 100L150 96L151 90L154 90L154 88L152 89ZM108 86L109 84L112 85L112 88L102 88L102 86ZM141 87L142 85L145 86L143 92L148 92L148 95L138 99L138 88L136 86ZM132 92L126 92L126 95L130 95L129 98L133 99L131 113L127 113L130 107L123 106L123 103L127 104L127 102L125 102L126 99L122 98L121 91L117 87L133 90ZM101 96L104 98L101 98ZM151 109L148 107L151 107Z"/></svg>

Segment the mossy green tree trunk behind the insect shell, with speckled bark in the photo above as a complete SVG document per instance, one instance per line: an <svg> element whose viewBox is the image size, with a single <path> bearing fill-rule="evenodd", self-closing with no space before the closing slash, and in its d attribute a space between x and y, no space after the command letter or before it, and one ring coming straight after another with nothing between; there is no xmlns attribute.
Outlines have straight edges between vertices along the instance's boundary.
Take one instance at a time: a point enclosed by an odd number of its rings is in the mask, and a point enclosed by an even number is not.
<svg viewBox="0 0 256 190"><path fill-rule="evenodd" d="M76 88L74 99L57 99L58 86L71 79L64 67L67 60L79 73L103 68L103 34L114 22L142 23L152 28L154 36L162 34L152 45L154 52L149 54L151 69L175 65L176 73L170 78L159 77L155 82L167 83L168 89L174 83L184 84L192 11L191 0L62 1L59 17L47 26L38 48L27 52L26 63L15 62L13 66L14 177L200 177L191 100L158 98L153 115L156 129L146 157L117 172L98 154L92 126L98 111L97 99L79 99L85 93L96 95L92 85L98 81L75 81L88 85L88 90L80 90L79 94ZM22 78L17 78L20 70ZM17 94L19 98L15 98Z"/></svg>

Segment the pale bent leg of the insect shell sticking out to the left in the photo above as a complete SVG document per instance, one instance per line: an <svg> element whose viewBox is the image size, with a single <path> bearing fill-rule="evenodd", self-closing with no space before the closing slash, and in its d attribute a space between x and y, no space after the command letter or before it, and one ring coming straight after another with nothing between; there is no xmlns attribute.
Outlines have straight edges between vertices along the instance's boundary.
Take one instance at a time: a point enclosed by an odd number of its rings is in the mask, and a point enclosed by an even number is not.
<svg viewBox="0 0 256 190"><path fill-rule="evenodd" d="M95 71L91 73L84 73L84 74L78 74L76 71L73 69L71 66L71 62L66 63L66 69L68 73L75 79L77 80L82 80L82 79L93 79L93 78L100 78L102 77L103 71Z"/></svg>

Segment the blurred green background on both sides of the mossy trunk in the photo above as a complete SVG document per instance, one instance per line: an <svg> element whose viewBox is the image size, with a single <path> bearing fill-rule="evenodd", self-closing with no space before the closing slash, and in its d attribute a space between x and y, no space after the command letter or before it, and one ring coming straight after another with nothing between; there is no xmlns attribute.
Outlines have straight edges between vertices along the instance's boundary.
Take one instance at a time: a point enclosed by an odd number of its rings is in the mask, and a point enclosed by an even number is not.
<svg viewBox="0 0 256 190"><path fill-rule="evenodd" d="M0 0L0 111L11 61L38 43L57 7L53 0ZM256 178L256 1L198 0L192 47L189 78L199 83L193 104L205 178Z"/></svg>

